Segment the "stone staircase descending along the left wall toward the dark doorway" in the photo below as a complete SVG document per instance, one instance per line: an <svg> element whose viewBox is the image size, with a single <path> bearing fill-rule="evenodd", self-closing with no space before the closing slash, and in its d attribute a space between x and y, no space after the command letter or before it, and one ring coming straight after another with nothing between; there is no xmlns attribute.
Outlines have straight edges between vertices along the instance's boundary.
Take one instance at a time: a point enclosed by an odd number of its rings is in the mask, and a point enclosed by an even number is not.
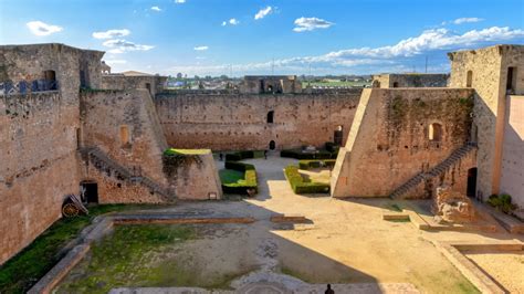
<svg viewBox="0 0 524 294"><path fill-rule="evenodd" d="M111 159L104 151L102 151L98 147L84 147L80 149L80 153L83 156L86 156L87 159L102 171L111 170L112 175L118 179L124 179L130 181L133 183L143 185L148 188L150 191L154 191L158 195L168 198L175 198L175 195L169 192L168 189L165 189L163 186L154 181L153 179L142 176L135 175L128 168L124 167L123 165L118 164L117 161Z"/></svg>

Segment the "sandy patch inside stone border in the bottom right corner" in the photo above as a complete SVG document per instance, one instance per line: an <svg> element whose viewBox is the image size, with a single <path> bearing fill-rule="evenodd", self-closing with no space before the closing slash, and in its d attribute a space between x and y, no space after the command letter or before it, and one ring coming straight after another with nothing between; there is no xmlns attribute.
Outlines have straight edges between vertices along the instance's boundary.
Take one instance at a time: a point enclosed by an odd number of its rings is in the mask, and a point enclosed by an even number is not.
<svg viewBox="0 0 524 294"><path fill-rule="evenodd" d="M463 252L510 293L524 293L524 253Z"/></svg>

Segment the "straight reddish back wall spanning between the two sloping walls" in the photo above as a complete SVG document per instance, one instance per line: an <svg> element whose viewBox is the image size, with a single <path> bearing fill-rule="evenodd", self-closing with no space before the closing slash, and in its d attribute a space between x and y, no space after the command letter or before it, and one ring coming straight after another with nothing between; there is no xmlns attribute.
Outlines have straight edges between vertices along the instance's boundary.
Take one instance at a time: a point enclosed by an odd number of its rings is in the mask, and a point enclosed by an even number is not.
<svg viewBox="0 0 524 294"><path fill-rule="evenodd" d="M158 94L155 98L169 146L213 150L324 146L352 126L361 90L311 94ZM268 113L274 112L273 123Z"/></svg>

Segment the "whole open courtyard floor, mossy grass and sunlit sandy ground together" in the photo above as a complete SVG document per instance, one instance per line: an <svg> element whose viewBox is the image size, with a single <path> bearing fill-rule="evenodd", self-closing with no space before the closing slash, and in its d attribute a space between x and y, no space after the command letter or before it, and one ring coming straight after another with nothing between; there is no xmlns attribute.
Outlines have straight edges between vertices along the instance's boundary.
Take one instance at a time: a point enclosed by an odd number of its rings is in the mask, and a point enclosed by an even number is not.
<svg viewBox="0 0 524 294"><path fill-rule="evenodd" d="M252 218L252 223L133 224L116 227L96 242L57 287L57 293L107 293L125 287L198 287L228 291L266 281L293 288L295 279L318 291L325 284L381 285L384 292L478 293L473 284L432 243L511 240L499 233L426 232L409 221L384 221L390 199L333 199L295 195L283 168L294 159L270 155L249 159L256 167L259 193L240 201L181 202L140 213L200 218ZM218 168L223 162L217 161ZM321 171L322 174L325 171ZM317 177L317 175L312 175ZM322 178L322 177L321 177ZM136 213L129 211L124 213ZM303 223L272 222L275 214L302 216ZM524 288L522 254L468 254L510 292ZM499 279L499 276L503 276ZM378 287L371 288L370 293ZM389 291L388 291L389 290ZM404 292L402 291L402 292Z"/></svg>

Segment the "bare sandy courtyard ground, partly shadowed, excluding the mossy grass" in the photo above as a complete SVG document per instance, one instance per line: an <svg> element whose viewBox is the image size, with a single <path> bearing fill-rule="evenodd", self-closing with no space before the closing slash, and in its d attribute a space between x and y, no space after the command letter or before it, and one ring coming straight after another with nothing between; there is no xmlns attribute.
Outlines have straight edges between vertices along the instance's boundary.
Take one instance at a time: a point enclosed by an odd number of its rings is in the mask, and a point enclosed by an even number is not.
<svg viewBox="0 0 524 294"><path fill-rule="evenodd" d="M270 155L266 160L245 161L256 168L259 195L255 198L181 202L161 211L252 217L258 221L209 225L209 233L178 245L164 258L176 256L201 276L227 273L233 279L262 270L292 275L307 283L411 283L423 293L478 293L430 241L489 242L513 238L505 233L426 232L409 222L384 221L382 211L395 203L392 200L298 196L293 193L283 175L283 168L296 160ZM217 167L222 168L223 162L217 161ZM276 213L304 216L310 223L270 222L270 217ZM475 255L473 259L483 263L484 258ZM488 265L494 271L496 266ZM522 255L511 263L511 267L515 267L513 272L518 266L522 270ZM504 284L502 275L500 279Z"/></svg>

